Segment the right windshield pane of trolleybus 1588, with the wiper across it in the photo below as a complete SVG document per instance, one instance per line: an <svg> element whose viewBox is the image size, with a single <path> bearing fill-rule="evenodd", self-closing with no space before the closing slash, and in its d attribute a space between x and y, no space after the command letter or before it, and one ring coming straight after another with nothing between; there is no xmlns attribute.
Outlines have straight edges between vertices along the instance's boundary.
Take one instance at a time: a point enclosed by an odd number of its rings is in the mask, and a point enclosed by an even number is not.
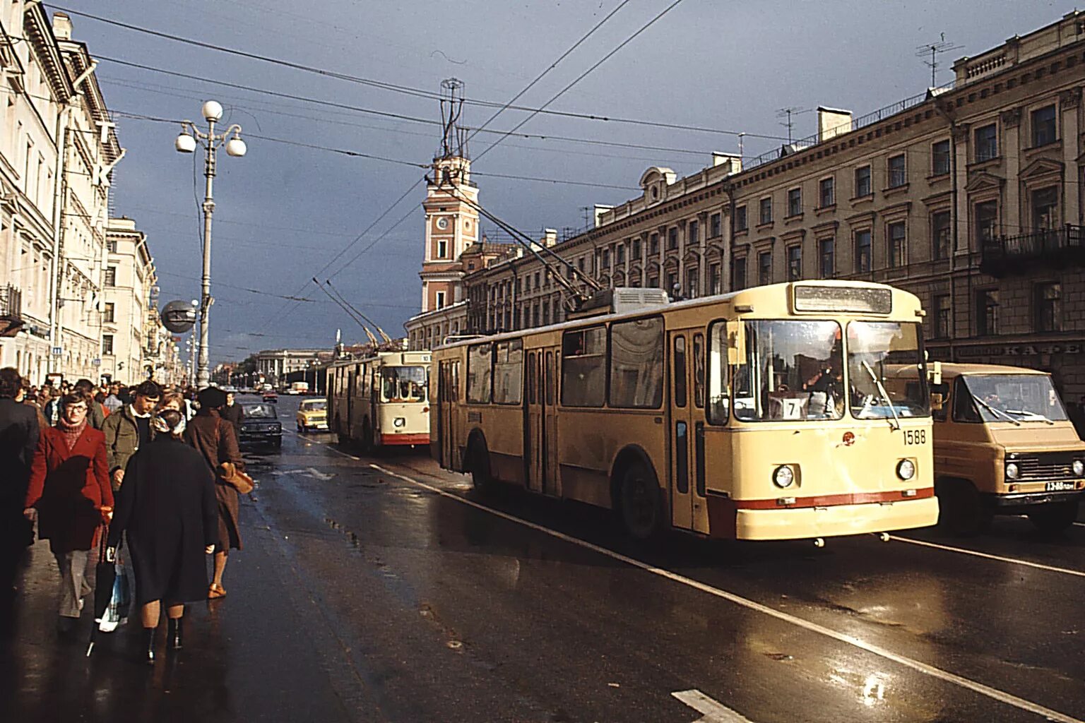
<svg viewBox="0 0 1085 723"><path fill-rule="evenodd" d="M919 324L895 321L847 324L847 376L855 418L930 415L921 341ZM917 377L902 384L899 371L904 366L915 366Z"/></svg>

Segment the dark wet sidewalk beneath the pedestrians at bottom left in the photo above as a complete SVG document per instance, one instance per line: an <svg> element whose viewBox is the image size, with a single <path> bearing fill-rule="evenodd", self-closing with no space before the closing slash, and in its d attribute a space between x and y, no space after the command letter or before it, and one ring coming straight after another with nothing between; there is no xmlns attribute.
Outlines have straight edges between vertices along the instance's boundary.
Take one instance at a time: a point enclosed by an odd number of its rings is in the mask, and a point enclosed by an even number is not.
<svg viewBox="0 0 1085 723"><path fill-rule="evenodd" d="M307 634L306 601L292 593L289 559L259 512L243 504L245 548L233 551L222 599L191 604L184 648L140 659L142 631L100 634L86 657L92 595L71 641L56 632L56 565L48 542L28 552L16 578L15 634L0 648L0 721L346 721L319 635ZM256 521L256 525L253 521ZM163 616L165 617L165 616Z"/></svg>

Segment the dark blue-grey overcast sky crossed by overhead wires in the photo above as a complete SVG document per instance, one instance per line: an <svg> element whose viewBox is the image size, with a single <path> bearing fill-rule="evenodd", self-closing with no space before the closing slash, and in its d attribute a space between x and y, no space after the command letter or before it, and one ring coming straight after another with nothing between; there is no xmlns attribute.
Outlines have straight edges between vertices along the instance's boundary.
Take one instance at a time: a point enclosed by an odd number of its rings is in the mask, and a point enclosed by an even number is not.
<svg viewBox="0 0 1085 723"><path fill-rule="evenodd" d="M673 0L631 0L519 103L537 106L566 86ZM436 92L455 76L467 96L505 102L610 13L621 0L63 0L49 3L127 24L356 77ZM941 56L939 83L957 57L979 54L1072 11L1072 0L684 0L550 107L766 135L786 135L779 108L829 105L863 115L922 92L930 69L916 47L945 40L960 50ZM73 15L74 37L103 57L98 76L108 106L164 118L200 116L218 100L239 122L248 155L219 155L213 261L212 364L261 348L327 347L342 328L362 335L337 307L305 282L416 181L408 165L253 138L265 135L429 163L441 137L435 100L320 77L227 55ZM116 59L221 80L432 120L432 125L335 109L299 100L215 86L124 66ZM490 108L467 106L467 125ZM506 112L490 128L525 114ZM173 150L179 127L118 117L127 155L117 168L113 208L149 235L162 300L199 296L202 167ZM795 116L796 138L815 131L815 114ZM583 208L621 204L638 194L652 165L679 177L710 164L712 151L737 152L735 135L540 115L521 132L605 140L673 151L620 149L509 138L474 166L480 201L521 230L580 227ZM471 143L478 155L495 135ZM745 154L778 141L746 138ZM195 160L199 160L196 158ZM421 296L424 189L416 185L342 260L336 286L393 336ZM407 216L398 227L390 229ZM484 231L487 231L484 225ZM489 230L492 238L496 236ZM360 256L363 248L368 250ZM322 277L323 277L322 276ZM315 302L291 305L269 294L301 292ZM289 312L288 312L289 310Z"/></svg>

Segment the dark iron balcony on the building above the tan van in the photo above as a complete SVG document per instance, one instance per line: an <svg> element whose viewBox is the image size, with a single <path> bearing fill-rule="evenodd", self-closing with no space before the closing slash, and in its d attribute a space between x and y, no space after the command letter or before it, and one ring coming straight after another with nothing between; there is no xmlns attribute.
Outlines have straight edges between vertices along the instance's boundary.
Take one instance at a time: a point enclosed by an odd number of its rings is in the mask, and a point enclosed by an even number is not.
<svg viewBox="0 0 1085 723"><path fill-rule="evenodd" d="M980 270L992 276L1027 273L1036 267L1085 266L1085 227L996 236L983 243Z"/></svg>

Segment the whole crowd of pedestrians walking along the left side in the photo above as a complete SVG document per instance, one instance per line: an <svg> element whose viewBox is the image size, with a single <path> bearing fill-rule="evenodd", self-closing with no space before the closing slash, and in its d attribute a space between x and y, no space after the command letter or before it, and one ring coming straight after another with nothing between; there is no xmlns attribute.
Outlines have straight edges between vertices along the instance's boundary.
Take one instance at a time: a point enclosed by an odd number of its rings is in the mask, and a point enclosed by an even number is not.
<svg viewBox="0 0 1085 723"><path fill-rule="evenodd" d="M167 646L180 648L184 604L226 596L227 557L241 548L238 488L251 478L235 413L215 387L36 387L0 369L0 464L10 470L0 481L0 645L13 633L15 579L36 529L56 560L60 635L77 630L95 563L123 557L141 659L155 660L163 607Z"/></svg>

